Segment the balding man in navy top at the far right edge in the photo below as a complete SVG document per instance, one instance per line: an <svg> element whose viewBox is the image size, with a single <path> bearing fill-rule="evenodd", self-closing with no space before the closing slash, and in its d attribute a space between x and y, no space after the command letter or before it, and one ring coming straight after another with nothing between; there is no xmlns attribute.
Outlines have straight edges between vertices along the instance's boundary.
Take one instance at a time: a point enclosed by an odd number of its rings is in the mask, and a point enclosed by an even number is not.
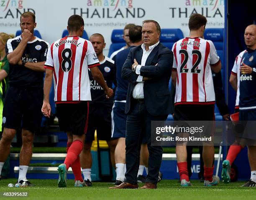
<svg viewBox="0 0 256 200"><path fill-rule="evenodd" d="M256 121L256 25L249 25L244 32L246 51L238 55L239 78L239 120ZM235 75L235 74L233 74ZM238 148L239 149L239 148ZM240 148L241 149L241 148ZM256 187L256 146L248 146L251 178L242 187ZM224 178L228 179L230 163L223 162Z"/></svg>

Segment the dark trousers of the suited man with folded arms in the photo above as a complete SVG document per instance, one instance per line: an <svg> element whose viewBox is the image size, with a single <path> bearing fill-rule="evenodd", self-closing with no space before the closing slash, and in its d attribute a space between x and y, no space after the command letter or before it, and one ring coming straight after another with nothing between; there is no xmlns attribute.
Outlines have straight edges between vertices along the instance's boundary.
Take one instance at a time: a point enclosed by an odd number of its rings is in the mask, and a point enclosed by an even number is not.
<svg viewBox="0 0 256 200"><path fill-rule="evenodd" d="M167 115L153 116L149 114L144 102L133 100L126 122L126 182L137 184L141 142L146 134L149 152L146 182L157 184L163 149L161 146L151 146L151 121L165 121L166 119Z"/></svg>

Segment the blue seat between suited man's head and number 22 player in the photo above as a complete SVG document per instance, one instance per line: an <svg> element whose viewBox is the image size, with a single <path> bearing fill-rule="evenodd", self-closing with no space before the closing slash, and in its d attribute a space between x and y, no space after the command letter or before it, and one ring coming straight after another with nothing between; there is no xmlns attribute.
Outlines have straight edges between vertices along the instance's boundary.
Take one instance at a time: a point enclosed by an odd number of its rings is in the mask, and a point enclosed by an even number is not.
<svg viewBox="0 0 256 200"><path fill-rule="evenodd" d="M184 35L179 28L161 29L160 42L171 50L173 44L182 38L184 38Z"/></svg>

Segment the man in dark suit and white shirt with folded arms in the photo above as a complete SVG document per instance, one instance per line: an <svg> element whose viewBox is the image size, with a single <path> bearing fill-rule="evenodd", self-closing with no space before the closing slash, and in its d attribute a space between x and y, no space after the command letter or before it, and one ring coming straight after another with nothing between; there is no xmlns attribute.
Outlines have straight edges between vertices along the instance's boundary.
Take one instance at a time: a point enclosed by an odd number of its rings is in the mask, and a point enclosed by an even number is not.
<svg viewBox="0 0 256 200"><path fill-rule="evenodd" d="M159 43L161 28L154 20L143 21L143 44L131 49L123 65L122 78L129 81L125 113L125 182L116 189L138 188L137 174L143 135L148 143L148 175L142 189L156 188L162 147L151 146L151 121L165 121L171 112L168 88L173 53Z"/></svg>

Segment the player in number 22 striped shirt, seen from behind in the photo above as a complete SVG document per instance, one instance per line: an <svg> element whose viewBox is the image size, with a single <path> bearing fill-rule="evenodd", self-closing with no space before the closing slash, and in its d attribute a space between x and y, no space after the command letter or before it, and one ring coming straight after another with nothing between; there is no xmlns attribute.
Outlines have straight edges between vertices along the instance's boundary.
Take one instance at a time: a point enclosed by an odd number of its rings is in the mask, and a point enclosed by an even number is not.
<svg viewBox="0 0 256 200"><path fill-rule="evenodd" d="M183 38L172 48L174 66L172 80L176 84L174 120L212 121L215 119L215 93L211 68L215 73L221 69L220 58L212 41L203 39L207 19L200 14L189 18L189 37ZM176 82L177 80L177 82ZM191 186L187 172L186 145L176 146L177 165L181 186ZM217 185L213 176L214 146L203 147L205 186Z"/></svg>

